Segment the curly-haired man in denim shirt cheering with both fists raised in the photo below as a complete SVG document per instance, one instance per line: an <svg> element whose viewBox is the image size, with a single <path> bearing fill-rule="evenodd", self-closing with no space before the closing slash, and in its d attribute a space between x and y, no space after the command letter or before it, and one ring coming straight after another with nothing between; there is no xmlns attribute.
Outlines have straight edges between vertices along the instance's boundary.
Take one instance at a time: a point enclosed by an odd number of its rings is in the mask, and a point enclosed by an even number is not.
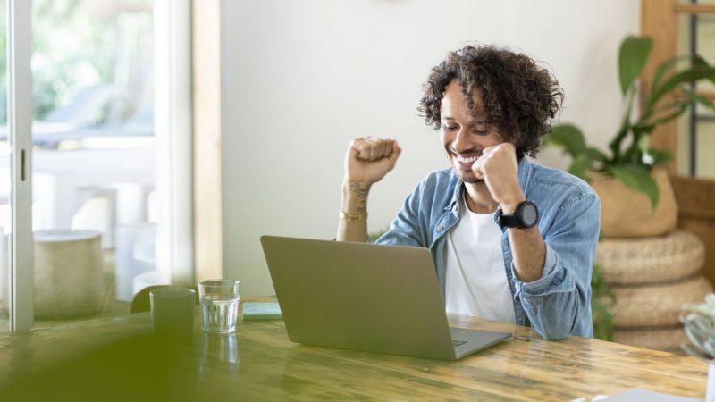
<svg viewBox="0 0 715 402"><path fill-rule="evenodd" d="M545 339L593 337L600 201L583 180L526 158L562 96L532 59L493 46L433 68L419 110L451 169L422 180L377 242L429 247L448 312L531 325ZM393 139L350 143L338 240L367 239L368 192L400 151Z"/></svg>

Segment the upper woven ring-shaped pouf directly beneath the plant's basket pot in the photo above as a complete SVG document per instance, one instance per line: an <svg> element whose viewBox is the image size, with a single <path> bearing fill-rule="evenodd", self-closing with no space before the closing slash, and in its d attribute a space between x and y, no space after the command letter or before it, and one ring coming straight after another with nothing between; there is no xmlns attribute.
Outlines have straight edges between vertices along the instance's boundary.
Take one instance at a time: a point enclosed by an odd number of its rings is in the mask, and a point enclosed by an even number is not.
<svg viewBox="0 0 715 402"><path fill-rule="evenodd" d="M687 230L650 238L602 239L596 248L596 264L612 285L676 281L697 272L704 261L701 239Z"/></svg>

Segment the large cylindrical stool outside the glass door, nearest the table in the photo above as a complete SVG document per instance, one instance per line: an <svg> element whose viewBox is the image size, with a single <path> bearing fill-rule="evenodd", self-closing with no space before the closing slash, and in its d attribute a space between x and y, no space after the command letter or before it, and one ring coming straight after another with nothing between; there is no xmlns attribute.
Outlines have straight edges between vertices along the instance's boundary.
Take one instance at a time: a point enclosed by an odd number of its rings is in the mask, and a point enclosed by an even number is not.
<svg viewBox="0 0 715 402"><path fill-rule="evenodd" d="M102 248L96 230L37 230L35 316L95 314L101 308Z"/></svg>

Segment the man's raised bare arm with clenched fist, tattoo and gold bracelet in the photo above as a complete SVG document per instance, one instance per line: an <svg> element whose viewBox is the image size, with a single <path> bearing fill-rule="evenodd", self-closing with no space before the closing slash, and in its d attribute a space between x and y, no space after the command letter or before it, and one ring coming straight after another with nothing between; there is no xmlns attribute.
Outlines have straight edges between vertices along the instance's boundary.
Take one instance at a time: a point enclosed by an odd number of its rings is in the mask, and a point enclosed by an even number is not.
<svg viewBox="0 0 715 402"><path fill-rule="evenodd" d="M400 146L394 139L355 138L345 155L338 241L367 239L367 195L397 163Z"/></svg>

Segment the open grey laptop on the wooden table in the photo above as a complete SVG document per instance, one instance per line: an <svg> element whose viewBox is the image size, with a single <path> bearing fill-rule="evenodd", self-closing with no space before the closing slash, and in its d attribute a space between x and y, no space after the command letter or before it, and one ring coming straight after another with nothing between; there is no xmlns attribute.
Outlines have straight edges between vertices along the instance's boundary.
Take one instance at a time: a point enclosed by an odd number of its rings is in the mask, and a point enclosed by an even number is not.
<svg viewBox="0 0 715 402"><path fill-rule="evenodd" d="M291 341L456 360L511 338L450 328L424 247L263 236Z"/></svg>

